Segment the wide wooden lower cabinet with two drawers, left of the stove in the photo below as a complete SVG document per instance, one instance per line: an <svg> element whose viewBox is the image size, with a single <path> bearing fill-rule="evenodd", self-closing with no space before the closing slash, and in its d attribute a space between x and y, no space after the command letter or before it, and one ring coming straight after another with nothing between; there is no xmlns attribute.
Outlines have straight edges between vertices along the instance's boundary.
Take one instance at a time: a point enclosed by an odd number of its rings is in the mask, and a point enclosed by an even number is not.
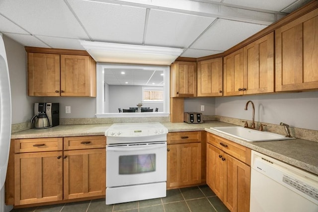
<svg viewBox="0 0 318 212"><path fill-rule="evenodd" d="M105 136L12 141L14 152L10 152L5 182L7 205L63 202L105 195Z"/></svg>

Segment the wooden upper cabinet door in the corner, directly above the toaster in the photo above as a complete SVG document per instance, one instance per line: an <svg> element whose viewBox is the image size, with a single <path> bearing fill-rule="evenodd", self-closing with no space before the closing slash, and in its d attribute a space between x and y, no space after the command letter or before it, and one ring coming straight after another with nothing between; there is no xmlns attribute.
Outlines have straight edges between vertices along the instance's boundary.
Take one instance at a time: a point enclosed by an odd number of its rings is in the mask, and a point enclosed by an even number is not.
<svg viewBox="0 0 318 212"><path fill-rule="evenodd" d="M222 96L223 60L216 58L198 63L197 96Z"/></svg>

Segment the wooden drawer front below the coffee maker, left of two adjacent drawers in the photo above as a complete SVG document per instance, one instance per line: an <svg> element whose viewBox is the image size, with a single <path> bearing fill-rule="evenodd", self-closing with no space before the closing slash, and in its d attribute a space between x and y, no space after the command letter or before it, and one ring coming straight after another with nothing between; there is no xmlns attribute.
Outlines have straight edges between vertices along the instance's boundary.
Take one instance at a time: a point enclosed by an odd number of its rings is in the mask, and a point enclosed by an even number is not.
<svg viewBox="0 0 318 212"><path fill-rule="evenodd" d="M40 152L63 150L63 138L16 139L14 152Z"/></svg>

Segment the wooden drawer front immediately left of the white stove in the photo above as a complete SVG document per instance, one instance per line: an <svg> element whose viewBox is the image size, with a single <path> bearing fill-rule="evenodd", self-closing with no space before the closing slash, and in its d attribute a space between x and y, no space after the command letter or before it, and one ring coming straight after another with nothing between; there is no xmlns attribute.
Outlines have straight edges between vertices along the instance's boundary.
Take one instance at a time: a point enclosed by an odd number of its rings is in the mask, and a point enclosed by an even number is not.
<svg viewBox="0 0 318 212"><path fill-rule="evenodd" d="M88 148L105 148L105 136L79 136L65 137L64 150L88 149Z"/></svg>

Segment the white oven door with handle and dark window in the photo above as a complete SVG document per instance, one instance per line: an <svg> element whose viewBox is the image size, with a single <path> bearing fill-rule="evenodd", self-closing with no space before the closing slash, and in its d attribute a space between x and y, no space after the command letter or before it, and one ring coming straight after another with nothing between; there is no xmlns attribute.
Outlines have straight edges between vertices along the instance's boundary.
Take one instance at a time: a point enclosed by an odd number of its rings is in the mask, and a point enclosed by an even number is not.
<svg viewBox="0 0 318 212"><path fill-rule="evenodd" d="M167 143L106 146L106 187L166 181Z"/></svg>

